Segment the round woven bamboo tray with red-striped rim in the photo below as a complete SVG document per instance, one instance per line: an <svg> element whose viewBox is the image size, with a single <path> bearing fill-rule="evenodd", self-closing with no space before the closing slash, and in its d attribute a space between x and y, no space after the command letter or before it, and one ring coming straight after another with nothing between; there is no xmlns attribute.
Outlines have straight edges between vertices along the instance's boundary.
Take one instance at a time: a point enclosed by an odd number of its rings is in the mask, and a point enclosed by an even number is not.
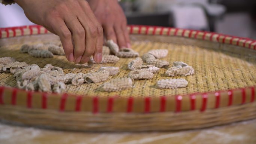
<svg viewBox="0 0 256 144"><path fill-rule="evenodd" d="M161 68L151 80L140 80L121 92L103 92L102 83L67 86L65 94L48 94L15 88L11 74L0 73L0 119L44 128L75 131L173 131L205 128L256 118L256 41L222 34L166 27L128 26L132 48L140 55L150 49L168 49L165 60L183 61L195 74L183 77L188 86L158 89L156 81L170 78ZM33 58L19 53L24 43L58 41L38 25L1 28L0 57L43 67L52 64L64 73L97 71L78 68L65 56ZM120 72L127 76L132 58L121 58ZM179 77L174 77L179 78ZM108 79L108 80L110 80Z"/></svg>

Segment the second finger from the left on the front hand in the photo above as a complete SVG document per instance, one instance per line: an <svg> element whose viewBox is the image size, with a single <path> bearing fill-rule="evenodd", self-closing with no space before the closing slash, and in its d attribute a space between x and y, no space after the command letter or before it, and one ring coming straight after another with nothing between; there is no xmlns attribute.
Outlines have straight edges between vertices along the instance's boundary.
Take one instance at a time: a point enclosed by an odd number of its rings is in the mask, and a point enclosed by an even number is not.
<svg viewBox="0 0 256 144"><path fill-rule="evenodd" d="M81 61L82 55L85 52L85 29L74 16L67 15L64 21L72 33L74 41L74 62L78 63Z"/></svg>

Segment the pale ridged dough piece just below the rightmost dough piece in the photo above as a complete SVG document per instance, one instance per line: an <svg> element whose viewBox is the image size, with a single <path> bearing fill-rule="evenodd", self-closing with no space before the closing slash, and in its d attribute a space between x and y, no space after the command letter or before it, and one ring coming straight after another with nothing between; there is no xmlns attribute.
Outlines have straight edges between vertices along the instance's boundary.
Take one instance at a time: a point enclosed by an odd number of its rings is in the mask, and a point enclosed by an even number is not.
<svg viewBox="0 0 256 144"><path fill-rule="evenodd" d="M161 89L177 89L185 88L188 85L188 81L185 79L164 79L157 82L158 88Z"/></svg>

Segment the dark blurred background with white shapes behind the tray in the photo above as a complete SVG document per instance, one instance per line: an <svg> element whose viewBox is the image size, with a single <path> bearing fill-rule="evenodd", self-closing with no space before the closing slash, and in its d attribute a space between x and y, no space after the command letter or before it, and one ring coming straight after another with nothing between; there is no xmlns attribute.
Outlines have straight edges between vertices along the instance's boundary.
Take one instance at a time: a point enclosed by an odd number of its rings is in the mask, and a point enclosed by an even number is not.
<svg viewBox="0 0 256 144"><path fill-rule="evenodd" d="M121 0L128 24L205 30L256 39L256 0ZM0 27L33 24L17 5L0 5Z"/></svg>

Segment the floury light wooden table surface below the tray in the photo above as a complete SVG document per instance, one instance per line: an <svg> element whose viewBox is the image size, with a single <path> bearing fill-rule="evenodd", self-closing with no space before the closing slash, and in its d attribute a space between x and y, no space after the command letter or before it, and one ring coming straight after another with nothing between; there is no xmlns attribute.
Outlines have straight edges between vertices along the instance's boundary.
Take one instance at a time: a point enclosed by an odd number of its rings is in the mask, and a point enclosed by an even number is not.
<svg viewBox="0 0 256 144"><path fill-rule="evenodd" d="M88 133L0 123L0 144L256 144L256 119L178 132Z"/></svg>

